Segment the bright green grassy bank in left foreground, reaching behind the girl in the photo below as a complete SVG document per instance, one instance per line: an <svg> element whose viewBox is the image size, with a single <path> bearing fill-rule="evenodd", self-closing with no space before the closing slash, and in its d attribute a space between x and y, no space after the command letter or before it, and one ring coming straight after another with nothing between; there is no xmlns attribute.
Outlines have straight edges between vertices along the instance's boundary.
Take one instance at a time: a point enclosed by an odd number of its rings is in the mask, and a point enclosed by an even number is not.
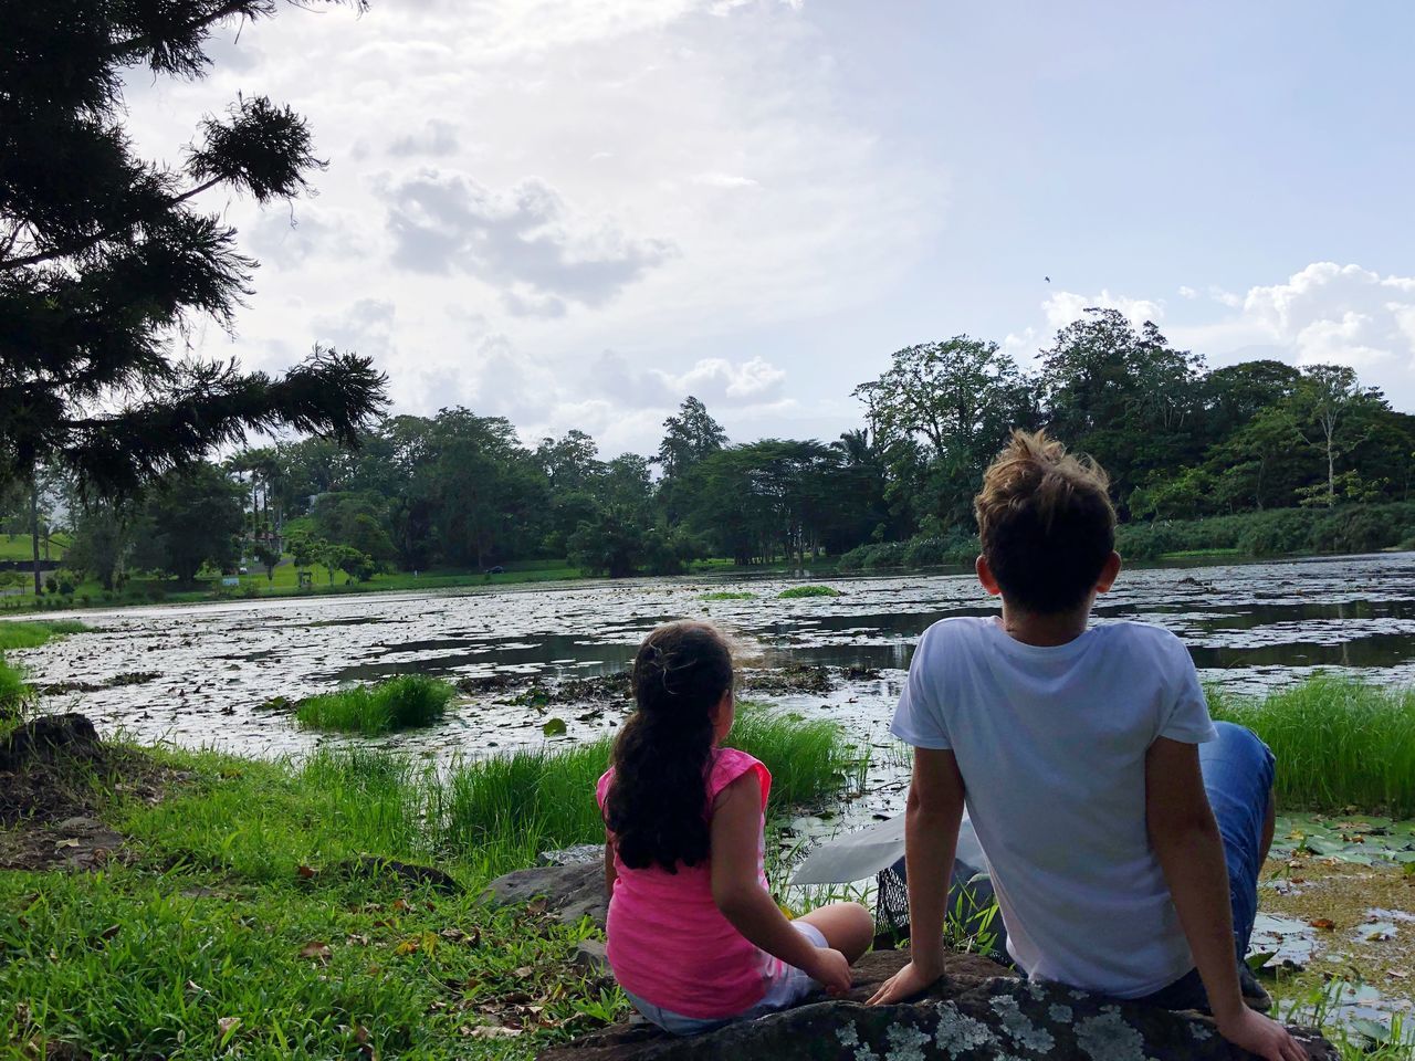
<svg viewBox="0 0 1415 1061"><path fill-rule="evenodd" d="M842 784L836 727L751 710L740 724L733 743L778 775L774 809ZM0 871L0 1055L529 1058L624 1016L572 962L587 924L478 900L541 846L603 837L607 743L447 774L366 750L151 754L167 796L109 781L98 808L126 859ZM351 874L364 854L436 863L463 888Z"/></svg>

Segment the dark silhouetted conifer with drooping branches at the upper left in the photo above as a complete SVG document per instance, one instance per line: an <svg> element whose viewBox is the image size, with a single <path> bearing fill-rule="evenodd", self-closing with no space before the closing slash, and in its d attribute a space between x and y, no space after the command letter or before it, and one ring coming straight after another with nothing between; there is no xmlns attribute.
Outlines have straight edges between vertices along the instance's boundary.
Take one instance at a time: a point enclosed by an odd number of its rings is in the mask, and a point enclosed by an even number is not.
<svg viewBox="0 0 1415 1061"><path fill-rule="evenodd" d="M55 460L100 492L133 492L249 430L352 443L382 403L368 358L317 347L284 376L174 361L198 317L231 328L255 262L198 197L258 202L323 164L293 110L239 96L201 120L180 168L133 154L126 71L202 76L218 23L275 0L7 3L0 21L0 480Z"/></svg>

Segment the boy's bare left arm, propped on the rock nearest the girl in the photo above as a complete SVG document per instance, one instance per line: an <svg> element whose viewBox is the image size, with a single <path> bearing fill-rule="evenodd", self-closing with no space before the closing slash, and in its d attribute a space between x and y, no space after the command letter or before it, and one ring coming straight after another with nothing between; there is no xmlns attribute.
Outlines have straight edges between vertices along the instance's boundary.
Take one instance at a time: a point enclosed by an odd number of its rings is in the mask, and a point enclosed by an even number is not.
<svg viewBox="0 0 1415 1061"><path fill-rule="evenodd" d="M944 975L944 915L962 818L964 778L954 753L914 748L914 779L904 811L911 958L874 993L872 1006L918 995Z"/></svg>

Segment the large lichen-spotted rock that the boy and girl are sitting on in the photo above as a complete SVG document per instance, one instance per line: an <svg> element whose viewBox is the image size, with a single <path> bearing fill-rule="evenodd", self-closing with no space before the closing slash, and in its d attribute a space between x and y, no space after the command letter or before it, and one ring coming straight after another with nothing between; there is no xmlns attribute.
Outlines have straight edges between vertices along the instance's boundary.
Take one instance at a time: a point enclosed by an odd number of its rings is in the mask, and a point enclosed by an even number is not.
<svg viewBox="0 0 1415 1061"><path fill-rule="evenodd" d="M539 1061L1238 1061L1213 1021L1118 1002L1060 985L1029 983L986 959L955 955L924 997L865 1006L908 951L876 951L856 966L848 1000L816 996L797 1009L674 1038L642 1024L618 1024ZM1293 1034L1312 1061L1339 1061L1310 1030Z"/></svg>

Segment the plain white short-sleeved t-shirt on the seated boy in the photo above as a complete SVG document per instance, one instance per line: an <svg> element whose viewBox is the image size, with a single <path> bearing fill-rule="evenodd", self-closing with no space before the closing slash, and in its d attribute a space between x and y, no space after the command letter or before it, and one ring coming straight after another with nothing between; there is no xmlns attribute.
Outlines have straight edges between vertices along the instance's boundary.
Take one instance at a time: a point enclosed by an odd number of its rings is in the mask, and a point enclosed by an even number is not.
<svg viewBox="0 0 1415 1061"><path fill-rule="evenodd" d="M1217 736L1179 638L1116 622L1039 647L996 617L942 620L890 729L952 748L1029 976L1135 999L1194 968L1145 826L1149 746Z"/></svg>

